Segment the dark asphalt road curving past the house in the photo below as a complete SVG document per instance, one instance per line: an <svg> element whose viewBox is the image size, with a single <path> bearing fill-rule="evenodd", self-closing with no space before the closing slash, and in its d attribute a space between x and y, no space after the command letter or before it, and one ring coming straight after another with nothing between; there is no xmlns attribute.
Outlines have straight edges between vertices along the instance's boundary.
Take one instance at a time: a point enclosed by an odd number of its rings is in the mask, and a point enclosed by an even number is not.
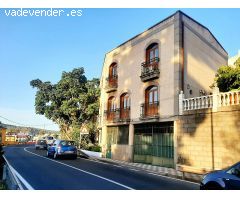
<svg viewBox="0 0 240 200"><path fill-rule="evenodd" d="M85 158L50 159L33 146L4 148L10 165L36 190L193 190L196 183Z"/></svg>

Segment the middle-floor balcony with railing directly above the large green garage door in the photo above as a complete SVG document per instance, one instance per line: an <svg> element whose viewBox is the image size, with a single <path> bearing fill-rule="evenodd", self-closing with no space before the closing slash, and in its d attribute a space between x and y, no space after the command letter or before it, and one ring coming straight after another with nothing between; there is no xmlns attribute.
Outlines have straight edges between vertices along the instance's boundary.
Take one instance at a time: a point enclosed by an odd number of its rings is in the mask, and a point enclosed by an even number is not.
<svg viewBox="0 0 240 200"><path fill-rule="evenodd" d="M140 119L158 119L159 118L159 101L153 103L142 103L140 105Z"/></svg>

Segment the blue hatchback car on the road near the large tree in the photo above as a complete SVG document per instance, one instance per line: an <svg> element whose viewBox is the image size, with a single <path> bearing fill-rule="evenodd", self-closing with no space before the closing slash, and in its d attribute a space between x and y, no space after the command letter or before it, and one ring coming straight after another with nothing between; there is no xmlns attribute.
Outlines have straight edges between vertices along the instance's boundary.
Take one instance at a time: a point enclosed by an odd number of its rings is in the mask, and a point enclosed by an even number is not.
<svg viewBox="0 0 240 200"><path fill-rule="evenodd" d="M47 157L54 159L59 157L77 158L77 148L74 141L70 140L56 140L52 146L48 147Z"/></svg>

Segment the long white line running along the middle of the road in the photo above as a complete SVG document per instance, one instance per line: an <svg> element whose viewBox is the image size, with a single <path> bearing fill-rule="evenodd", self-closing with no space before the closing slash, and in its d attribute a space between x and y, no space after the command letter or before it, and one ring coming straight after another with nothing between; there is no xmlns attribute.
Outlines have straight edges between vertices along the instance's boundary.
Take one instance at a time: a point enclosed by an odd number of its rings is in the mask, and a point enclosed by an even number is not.
<svg viewBox="0 0 240 200"><path fill-rule="evenodd" d="M35 155L35 156L38 156L38 157L41 157L41 158L45 158L45 159L47 159L47 160L51 160L51 161L53 161L53 162L56 162L56 163L65 165L65 166L70 167L70 168L72 168L72 169L75 169L75 170L81 171L81 172L83 172L83 173L86 173L86 174L89 174L89 175L98 177L98 178L103 179L103 180L108 181L108 182L114 183L114 184L119 185L119 186L121 186L121 187L124 187L124 188L126 188L126 189L134 190L134 189L131 188L131 187L128 187L128 186L126 186L126 185L123 185L123 184L118 183L118 182L116 182L116 181L113 181L113 180L111 180L111 179L108 179L108 178L99 176L99 175L97 175L97 174L94 174L94 173L91 173L91 172L88 172L88 171L79 169L79 168L77 168L77 167L73 167L73 166L71 166L71 165L68 165L68 164L65 164L65 163L62 163L62 162L59 162L59 161L56 161L56 160L47 158L47 157L40 156L40 155L38 155L38 154L36 154L36 153L33 153L33 152L31 152L31 151L28 151L27 148L29 148L29 147L25 147L25 148L24 148L24 151L26 151L26 152L28 152L28 153L31 153L31 154L33 154L33 155Z"/></svg>

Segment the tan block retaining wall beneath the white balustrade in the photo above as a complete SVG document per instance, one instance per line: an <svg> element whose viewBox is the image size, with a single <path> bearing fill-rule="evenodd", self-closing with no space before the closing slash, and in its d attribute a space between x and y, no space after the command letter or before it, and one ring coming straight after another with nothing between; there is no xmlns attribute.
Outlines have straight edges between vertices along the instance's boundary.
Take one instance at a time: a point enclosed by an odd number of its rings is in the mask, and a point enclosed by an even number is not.
<svg viewBox="0 0 240 200"><path fill-rule="evenodd" d="M240 161L240 105L186 111L175 126L182 170L204 173Z"/></svg>

